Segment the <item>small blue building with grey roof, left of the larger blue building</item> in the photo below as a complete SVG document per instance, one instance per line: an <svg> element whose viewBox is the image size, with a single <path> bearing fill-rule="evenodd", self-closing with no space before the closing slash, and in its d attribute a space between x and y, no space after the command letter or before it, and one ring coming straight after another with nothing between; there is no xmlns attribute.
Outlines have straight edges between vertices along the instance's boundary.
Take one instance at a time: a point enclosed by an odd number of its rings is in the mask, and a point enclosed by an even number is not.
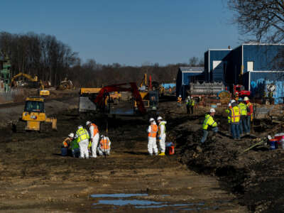
<svg viewBox="0 0 284 213"><path fill-rule="evenodd" d="M185 99L190 82L204 81L204 67L180 67L176 80L176 95Z"/></svg>

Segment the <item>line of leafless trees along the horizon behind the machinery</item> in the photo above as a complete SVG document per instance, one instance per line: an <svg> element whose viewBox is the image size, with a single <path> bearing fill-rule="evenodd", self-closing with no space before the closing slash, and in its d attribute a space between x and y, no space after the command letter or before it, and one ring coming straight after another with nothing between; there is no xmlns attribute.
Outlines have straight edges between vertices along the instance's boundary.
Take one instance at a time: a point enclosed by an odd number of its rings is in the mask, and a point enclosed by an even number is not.
<svg viewBox="0 0 284 213"><path fill-rule="evenodd" d="M0 33L0 53L11 60L11 76L23 72L38 75L43 81L54 86L62 80L72 80L77 87L102 87L102 85L122 82L140 83L144 73L152 76L156 82L175 82L178 67L200 65L202 60L192 58L190 64L159 66L158 63L146 63L140 67L120 65L102 65L95 60L82 62L78 53L69 45L62 43L54 35L25 33Z"/></svg>

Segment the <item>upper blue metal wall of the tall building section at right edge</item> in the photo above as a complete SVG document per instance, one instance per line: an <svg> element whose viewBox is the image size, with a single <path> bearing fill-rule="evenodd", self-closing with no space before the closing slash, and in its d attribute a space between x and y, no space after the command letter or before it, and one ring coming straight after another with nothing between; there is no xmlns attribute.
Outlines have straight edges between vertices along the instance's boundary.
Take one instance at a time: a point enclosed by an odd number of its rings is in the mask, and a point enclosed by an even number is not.
<svg viewBox="0 0 284 213"><path fill-rule="evenodd" d="M278 70L275 65L275 56L283 45L243 45L244 72L247 72L247 62L253 62L253 70Z"/></svg>

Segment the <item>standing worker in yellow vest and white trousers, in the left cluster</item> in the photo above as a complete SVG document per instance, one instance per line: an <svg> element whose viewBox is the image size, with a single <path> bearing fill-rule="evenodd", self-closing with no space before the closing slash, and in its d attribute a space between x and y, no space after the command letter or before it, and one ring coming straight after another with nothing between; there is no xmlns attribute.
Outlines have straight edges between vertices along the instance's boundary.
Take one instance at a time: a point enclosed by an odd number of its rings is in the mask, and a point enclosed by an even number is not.
<svg viewBox="0 0 284 213"><path fill-rule="evenodd" d="M77 143L80 147L80 158L89 158L89 133L83 126L78 126L78 130L75 134L75 139L77 139Z"/></svg>

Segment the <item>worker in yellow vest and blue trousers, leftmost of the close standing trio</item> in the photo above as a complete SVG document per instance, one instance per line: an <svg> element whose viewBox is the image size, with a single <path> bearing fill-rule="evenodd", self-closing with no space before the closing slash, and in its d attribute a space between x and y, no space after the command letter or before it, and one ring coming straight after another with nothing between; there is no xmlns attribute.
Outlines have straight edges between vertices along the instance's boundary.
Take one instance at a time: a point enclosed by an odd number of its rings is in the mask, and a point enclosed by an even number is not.
<svg viewBox="0 0 284 213"><path fill-rule="evenodd" d="M231 136L233 139L241 139L239 134L239 121L241 119L241 114L239 106L235 100L231 101L229 116L231 118Z"/></svg>

